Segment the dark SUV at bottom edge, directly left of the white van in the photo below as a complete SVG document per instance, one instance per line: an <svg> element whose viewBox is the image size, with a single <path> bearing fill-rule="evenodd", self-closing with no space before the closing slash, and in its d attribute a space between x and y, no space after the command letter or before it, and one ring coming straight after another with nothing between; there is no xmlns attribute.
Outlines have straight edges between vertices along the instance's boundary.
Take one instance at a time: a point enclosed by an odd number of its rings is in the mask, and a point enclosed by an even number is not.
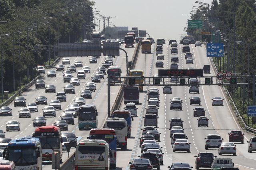
<svg viewBox="0 0 256 170"><path fill-rule="evenodd" d="M195 155L196 158L196 169L199 168L211 168L211 164L213 162L214 155L209 152L199 152L198 155ZM209 163L211 164L209 165Z"/></svg>

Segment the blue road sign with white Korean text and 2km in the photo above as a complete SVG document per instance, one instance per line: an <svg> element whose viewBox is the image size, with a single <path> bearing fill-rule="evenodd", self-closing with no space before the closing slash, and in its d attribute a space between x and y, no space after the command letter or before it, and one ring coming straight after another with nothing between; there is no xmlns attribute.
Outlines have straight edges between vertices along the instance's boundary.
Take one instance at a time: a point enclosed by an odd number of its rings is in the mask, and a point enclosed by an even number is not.
<svg viewBox="0 0 256 170"><path fill-rule="evenodd" d="M223 57L223 43L207 43L206 57Z"/></svg>

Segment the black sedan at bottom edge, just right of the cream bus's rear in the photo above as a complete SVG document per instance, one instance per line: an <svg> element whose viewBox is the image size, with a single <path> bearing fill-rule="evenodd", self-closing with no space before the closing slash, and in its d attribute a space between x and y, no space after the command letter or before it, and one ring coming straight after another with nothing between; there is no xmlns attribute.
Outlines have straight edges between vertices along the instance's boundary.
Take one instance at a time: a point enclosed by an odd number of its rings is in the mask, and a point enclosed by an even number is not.
<svg viewBox="0 0 256 170"><path fill-rule="evenodd" d="M153 170L152 164L149 159L136 158L129 162L130 170Z"/></svg>

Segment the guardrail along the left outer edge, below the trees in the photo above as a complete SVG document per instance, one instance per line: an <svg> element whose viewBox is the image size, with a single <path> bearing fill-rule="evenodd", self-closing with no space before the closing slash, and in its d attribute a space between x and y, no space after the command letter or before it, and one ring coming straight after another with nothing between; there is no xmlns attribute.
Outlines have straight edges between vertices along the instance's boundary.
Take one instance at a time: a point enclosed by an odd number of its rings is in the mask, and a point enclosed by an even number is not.
<svg viewBox="0 0 256 170"><path fill-rule="evenodd" d="M58 63L58 61L60 60L61 57L58 57L51 65L45 65L44 68L45 69L49 69L51 67L53 67L56 63ZM33 68L34 69L34 68ZM31 87L35 82L36 79L38 79L39 77L41 77L41 75L37 75L32 81L30 81L28 84L26 84L22 89L19 89L17 91L17 93L15 93L14 95L12 95L10 98L8 98L5 102L3 102L0 107L8 105L9 103L11 103L14 98L18 95L20 95L20 93L26 91L29 87Z"/></svg>

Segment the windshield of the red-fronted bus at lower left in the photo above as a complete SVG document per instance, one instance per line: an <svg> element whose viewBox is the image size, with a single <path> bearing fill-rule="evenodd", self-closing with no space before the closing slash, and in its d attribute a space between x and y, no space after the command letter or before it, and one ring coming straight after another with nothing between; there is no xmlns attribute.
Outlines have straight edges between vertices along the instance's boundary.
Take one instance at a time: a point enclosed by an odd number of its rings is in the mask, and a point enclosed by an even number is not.
<svg viewBox="0 0 256 170"><path fill-rule="evenodd" d="M60 148L60 138L50 137L50 136L35 136L39 138L42 149L59 149Z"/></svg>

